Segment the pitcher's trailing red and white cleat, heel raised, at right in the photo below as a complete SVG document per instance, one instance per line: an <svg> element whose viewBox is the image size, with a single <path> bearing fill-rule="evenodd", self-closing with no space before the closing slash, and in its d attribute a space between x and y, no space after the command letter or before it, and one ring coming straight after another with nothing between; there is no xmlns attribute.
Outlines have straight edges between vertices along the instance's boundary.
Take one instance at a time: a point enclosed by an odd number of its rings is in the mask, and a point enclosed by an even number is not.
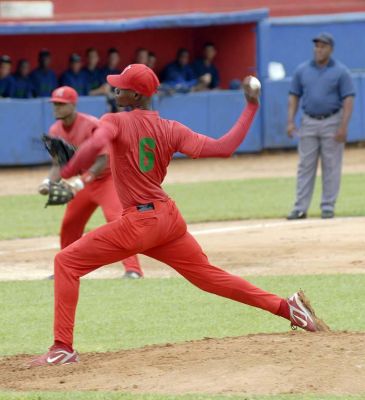
<svg viewBox="0 0 365 400"><path fill-rule="evenodd" d="M288 305L292 329L299 327L308 332L330 331L330 328L316 317L309 300L301 290L288 298Z"/></svg>

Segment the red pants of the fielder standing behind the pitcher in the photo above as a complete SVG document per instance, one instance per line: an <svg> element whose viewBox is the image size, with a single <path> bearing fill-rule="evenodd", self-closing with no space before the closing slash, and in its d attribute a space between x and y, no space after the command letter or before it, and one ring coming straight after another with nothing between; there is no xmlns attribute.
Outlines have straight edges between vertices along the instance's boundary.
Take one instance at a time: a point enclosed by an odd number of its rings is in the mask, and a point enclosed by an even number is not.
<svg viewBox="0 0 365 400"><path fill-rule="evenodd" d="M68 203L61 226L61 249L80 239L87 222L99 206L107 222L114 221L122 215L123 208L111 175L89 183ZM143 276L138 257L135 254L123 259L122 263L126 271L134 271Z"/></svg>

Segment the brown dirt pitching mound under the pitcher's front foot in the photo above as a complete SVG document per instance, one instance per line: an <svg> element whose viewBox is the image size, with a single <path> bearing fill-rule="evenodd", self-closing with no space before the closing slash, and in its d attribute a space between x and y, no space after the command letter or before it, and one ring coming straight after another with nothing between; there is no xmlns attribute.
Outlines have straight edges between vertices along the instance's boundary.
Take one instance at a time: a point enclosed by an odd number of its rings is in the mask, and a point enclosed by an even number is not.
<svg viewBox="0 0 365 400"><path fill-rule="evenodd" d="M0 359L0 389L130 393L365 393L365 333L293 332L82 354L79 364L25 368Z"/></svg>

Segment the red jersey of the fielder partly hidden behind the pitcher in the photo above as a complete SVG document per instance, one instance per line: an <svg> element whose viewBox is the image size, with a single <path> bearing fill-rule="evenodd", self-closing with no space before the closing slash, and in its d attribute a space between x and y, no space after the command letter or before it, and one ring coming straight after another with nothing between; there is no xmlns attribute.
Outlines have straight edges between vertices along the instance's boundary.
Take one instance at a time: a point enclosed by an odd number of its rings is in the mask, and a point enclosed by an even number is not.
<svg viewBox="0 0 365 400"><path fill-rule="evenodd" d="M64 126L61 120L57 120L50 127L49 134L50 136L60 137L76 147L80 147L82 143L93 136L99 125L100 121L96 117L78 112L72 125ZM99 154L107 154L107 151L103 149ZM80 172L84 173L86 170L81 169ZM100 179L109 174L110 167L108 162L104 171L97 178Z"/></svg>

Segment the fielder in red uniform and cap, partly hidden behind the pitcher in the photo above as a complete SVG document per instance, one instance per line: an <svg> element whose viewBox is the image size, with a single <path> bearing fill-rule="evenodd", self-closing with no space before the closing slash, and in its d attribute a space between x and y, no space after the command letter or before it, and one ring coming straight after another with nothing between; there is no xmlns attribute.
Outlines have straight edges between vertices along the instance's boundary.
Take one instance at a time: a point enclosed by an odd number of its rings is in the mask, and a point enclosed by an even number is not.
<svg viewBox="0 0 365 400"><path fill-rule="evenodd" d="M99 120L92 115L77 112L77 100L77 92L69 86L53 91L51 102L57 121L51 126L49 135L60 137L79 147L93 136L99 126ZM93 165L89 169L81 170L83 174L77 181L77 187L81 190L67 204L63 217L60 233L61 249L82 236L87 221L97 207L101 207L107 222L114 221L122 215L123 209L114 188L107 152L106 148L101 149L99 154L95 155ZM79 172L75 172L75 175ZM57 164L53 164L49 177L38 188L39 193L47 195L50 182L59 181L60 178L60 168ZM126 278L143 276L135 255L125 258L122 263Z"/></svg>

